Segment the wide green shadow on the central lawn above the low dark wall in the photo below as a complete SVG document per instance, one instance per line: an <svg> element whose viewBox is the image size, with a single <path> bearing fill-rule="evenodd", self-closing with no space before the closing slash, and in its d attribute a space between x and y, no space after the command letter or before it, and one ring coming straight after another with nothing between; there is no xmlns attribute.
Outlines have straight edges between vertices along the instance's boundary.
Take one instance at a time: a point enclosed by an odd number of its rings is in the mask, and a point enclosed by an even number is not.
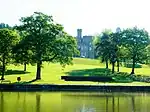
<svg viewBox="0 0 150 112"><path fill-rule="evenodd" d="M108 76L111 74L110 69L106 68L94 68L94 69L81 69L72 70L71 72L66 72L70 76Z"/></svg>

